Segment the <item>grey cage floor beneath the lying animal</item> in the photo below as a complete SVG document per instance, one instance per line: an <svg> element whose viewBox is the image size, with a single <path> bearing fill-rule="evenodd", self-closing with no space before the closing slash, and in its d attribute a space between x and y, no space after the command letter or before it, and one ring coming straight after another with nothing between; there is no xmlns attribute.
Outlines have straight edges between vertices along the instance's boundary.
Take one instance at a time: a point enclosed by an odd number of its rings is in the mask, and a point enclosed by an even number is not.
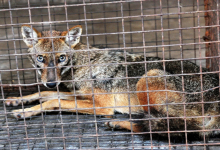
<svg viewBox="0 0 220 150"><path fill-rule="evenodd" d="M32 92L24 92L29 94ZM16 92L5 96L18 96ZM33 104L32 104L33 105ZM30 107L32 105L25 105ZM109 118L76 113L48 113L17 120L10 116L18 107L4 107L0 103L0 149L219 149L220 139L210 138L205 146L203 141L185 140L175 142L153 138L149 135L131 134L126 130L112 130L104 125ZM5 115L5 110L7 115ZM123 117L116 114L114 118Z"/></svg>

